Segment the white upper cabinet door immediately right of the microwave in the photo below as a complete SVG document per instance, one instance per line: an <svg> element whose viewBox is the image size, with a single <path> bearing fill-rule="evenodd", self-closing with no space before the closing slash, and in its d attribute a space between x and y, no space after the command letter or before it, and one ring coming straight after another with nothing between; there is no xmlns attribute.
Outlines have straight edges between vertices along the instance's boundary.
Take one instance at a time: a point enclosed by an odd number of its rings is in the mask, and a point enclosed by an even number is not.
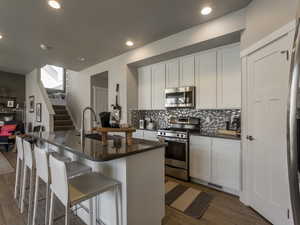
<svg viewBox="0 0 300 225"><path fill-rule="evenodd" d="M196 107L217 108L217 51L200 53L195 57Z"/></svg>

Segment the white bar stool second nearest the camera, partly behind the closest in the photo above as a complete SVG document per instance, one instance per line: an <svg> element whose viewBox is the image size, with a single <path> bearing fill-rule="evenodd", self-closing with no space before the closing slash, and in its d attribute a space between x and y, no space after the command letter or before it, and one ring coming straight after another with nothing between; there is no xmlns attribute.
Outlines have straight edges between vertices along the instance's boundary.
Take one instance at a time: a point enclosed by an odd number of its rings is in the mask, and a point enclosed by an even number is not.
<svg viewBox="0 0 300 225"><path fill-rule="evenodd" d="M40 179L46 183L45 224L48 224L49 221L49 199L50 199L49 155L54 156L55 158L58 158L60 161L66 163L68 178L72 178L74 176L78 176L91 171L91 168L88 166L85 166L76 161L66 162L56 152L45 151L44 149L40 149L39 147L35 146L34 156L36 162L36 179L35 179L35 195L34 195L34 204L33 204L32 225L36 224Z"/></svg>

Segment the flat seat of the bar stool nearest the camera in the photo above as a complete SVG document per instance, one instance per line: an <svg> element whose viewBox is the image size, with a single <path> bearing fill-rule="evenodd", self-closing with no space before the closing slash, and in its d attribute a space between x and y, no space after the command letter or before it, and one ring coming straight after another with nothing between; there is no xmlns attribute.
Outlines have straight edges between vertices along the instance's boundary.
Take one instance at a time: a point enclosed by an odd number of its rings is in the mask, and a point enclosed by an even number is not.
<svg viewBox="0 0 300 225"><path fill-rule="evenodd" d="M69 197L71 206L90 199L119 185L118 181L91 172L69 180Z"/></svg>

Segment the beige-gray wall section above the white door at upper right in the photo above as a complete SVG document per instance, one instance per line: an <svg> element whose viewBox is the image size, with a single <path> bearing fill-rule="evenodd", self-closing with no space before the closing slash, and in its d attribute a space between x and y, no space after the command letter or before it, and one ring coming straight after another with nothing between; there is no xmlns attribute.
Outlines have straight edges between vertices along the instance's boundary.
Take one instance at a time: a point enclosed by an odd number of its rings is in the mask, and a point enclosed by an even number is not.
<svg viewBox="0 0 300 225"><path fill-rule="evenodd" d="M296 17L299 0L253 0L246 10L246 30L241 48L246 49Z"/></svg>

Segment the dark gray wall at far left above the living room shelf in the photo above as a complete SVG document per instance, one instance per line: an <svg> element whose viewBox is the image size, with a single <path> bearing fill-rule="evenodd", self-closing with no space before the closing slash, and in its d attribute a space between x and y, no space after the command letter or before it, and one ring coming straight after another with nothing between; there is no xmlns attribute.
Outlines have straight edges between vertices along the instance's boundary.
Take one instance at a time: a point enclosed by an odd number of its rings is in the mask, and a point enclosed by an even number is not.
<svg viewBox="0 0 300 225"><path fill-rule="evenodd" d="M9 96L17 97L17 103L25 102L25 76L0 71L0 88L5 88Z"/></svg>

